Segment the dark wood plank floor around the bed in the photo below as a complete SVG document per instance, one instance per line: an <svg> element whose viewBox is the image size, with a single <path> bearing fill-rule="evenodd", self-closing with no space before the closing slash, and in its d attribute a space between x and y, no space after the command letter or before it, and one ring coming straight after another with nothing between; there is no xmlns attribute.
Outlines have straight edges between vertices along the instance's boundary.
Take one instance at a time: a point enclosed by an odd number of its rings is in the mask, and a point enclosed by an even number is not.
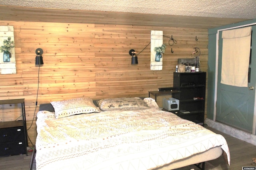
<svg viewBox="0 0 256 170"><path fill-rule="evenodd" d="M212 170L242 170L243 166L256 167L256 164L252 161L252 158L256 157L256 146L226 135L225 133L210 127L208 129L225 137L230 149L231 157L230 166L226 164L222 156L215 160L208 161L208 163L211 164ZM28 152L28 156L15 155L0 157L0 170L29 170L31 157L32 152ZM192 168L194 168L194 170L198 170L195 166ZM186 167L182 169L186 170ZM191 166L187 167L187 170L190 169Z"/></svg>

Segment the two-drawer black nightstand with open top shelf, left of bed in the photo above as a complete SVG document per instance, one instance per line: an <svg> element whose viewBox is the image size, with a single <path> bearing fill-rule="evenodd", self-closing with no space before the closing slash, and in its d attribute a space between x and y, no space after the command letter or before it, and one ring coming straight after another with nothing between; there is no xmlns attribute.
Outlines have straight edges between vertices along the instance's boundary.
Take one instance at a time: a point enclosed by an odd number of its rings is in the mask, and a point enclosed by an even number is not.
<svg viewBox="0 0 256 170"><path fill-rule="evenodd" d="M22 109L21 120L0 122L0 156L28 155L24 99L0 100L0 104L21 104Z"/></svg>

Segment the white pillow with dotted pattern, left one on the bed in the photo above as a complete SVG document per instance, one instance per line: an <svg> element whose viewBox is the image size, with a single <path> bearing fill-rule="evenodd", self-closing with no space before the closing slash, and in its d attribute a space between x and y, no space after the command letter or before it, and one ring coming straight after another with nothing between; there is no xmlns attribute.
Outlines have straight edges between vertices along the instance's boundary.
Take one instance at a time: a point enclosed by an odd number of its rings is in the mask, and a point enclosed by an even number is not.
<svg viewBox="0 0 256 170"><path fill-rule="evenodd" d="M61 118L80 113L100 112L90 98L76 98L51 102L54 107L55 117Z"/></svg>

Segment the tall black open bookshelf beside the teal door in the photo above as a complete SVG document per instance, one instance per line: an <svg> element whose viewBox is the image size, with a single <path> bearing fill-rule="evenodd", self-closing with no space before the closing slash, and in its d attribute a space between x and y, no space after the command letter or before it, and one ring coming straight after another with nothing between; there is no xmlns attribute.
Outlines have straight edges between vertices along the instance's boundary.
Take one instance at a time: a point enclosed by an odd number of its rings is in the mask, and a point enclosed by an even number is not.
<svg viewBox="0 0 256 170"><path fill-rule="evenodd" d="M180 100L178 116L204 125L206 72L174 72L173 86L180 91L172 94Z"/></svg>

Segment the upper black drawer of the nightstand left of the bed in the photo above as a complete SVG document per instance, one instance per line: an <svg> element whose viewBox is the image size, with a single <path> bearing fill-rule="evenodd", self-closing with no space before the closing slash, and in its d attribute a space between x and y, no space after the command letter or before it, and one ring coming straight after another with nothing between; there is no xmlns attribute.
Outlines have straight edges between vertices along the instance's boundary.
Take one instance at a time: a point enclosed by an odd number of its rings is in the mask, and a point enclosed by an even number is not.
<svg viewBox="0 0 256 170"><path fill-rule="evenodd" d="M24 140L23 127L10 127L0 129L0 143Z"/></svg>

